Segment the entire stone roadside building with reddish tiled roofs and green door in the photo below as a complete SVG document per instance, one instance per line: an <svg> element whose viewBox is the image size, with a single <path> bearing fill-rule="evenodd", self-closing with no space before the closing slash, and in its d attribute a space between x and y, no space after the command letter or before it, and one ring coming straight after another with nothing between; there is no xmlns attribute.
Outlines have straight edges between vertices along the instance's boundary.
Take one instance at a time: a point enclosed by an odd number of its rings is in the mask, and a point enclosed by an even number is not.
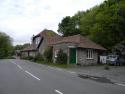
<svg viewBox="0 0 125 94"><path fill-rule="evenodd" d="M54 62L58 51L62 49L68 56L68 64L96 64L99 56L106 51L104 47L81 35L62 37L52 30L45 29L33 36L32 45L25 48L22 53L27 56L35 56L37 53L43 55L48 46L53 47Z"/></svg>

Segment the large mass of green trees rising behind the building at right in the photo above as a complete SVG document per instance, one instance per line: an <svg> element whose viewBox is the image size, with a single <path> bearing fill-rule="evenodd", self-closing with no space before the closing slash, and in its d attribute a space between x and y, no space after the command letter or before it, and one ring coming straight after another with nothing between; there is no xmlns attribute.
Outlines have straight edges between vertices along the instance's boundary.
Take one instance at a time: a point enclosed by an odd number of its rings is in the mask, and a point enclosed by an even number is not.
<svg viewBox="0 0 125 94"><path fill-rule="evenodd" d="M79 22L79 30L75 29ZM105 0L87 11L63 18L58 32L64 36L81 34L112 49L125 37L125 0Z"/></svg>

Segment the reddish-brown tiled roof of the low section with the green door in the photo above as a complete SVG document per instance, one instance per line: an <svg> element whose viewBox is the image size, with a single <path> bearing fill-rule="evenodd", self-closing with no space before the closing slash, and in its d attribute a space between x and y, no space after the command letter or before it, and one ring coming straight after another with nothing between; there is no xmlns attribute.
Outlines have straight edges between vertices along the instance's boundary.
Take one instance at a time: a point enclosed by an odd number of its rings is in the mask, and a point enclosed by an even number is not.
<svg viewBox="0 0 125 94"><path fill-rule="evenodd" d="M63 37L62 40L57 41L53 44L59 44L59 43L75 43L75 44L77 44L77 47L80 47L80 48L92 48L92 49L106 50L101 45L93 42L92 40L88 39L87 37L81 36L80 34Z"/></svg>

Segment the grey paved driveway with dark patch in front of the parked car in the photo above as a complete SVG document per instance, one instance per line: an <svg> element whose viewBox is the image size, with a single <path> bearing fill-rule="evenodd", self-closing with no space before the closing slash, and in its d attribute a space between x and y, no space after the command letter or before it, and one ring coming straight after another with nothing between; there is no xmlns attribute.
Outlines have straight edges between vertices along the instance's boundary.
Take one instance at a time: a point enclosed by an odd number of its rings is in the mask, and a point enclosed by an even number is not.
<svg viewBox="0 0 125 94"><path fill-rule="evenodd" d="M68 70L81 75L104 77L114 83L125 85L125 66L109 66L109 70L105 70L104 66L76 66Z"/></svg>

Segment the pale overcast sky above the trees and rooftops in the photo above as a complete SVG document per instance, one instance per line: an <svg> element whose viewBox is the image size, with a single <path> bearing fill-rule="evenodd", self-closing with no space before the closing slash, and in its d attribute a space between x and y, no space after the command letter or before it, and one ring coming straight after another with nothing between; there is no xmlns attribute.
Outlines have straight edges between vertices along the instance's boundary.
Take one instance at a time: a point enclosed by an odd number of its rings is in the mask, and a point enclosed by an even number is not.
<svg viewBox="0 0 125 94"><path fill-rule="evenodd" d="M73 16L104 0L0 0L0 31L13 39L13 44L31 42L31 37L44 29L57 32L65 16Z"/></svg>

